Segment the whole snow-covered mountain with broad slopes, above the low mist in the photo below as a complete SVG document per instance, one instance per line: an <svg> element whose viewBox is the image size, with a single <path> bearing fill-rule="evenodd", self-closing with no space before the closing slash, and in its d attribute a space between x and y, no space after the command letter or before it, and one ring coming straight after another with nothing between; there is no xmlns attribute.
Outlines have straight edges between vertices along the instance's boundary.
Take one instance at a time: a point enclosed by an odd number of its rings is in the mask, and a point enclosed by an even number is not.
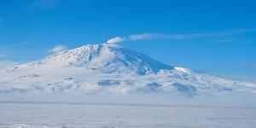
<svg viewBox="0 0 256 128"><path fill-rule="evenodd" d="M162 91L189 96L256 93L253 83L172 67L118 44L88 44L61 50L0 73L0 93L137 93Z"/></svg>

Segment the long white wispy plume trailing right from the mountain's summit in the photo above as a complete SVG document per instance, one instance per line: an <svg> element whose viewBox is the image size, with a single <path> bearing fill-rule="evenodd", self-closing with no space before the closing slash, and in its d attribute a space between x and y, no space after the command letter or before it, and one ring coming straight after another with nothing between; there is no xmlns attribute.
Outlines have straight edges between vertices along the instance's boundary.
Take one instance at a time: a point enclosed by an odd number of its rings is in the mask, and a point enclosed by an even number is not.
<svg viewBox="0 0 256 128"><path fill-rule="evenodd" d="M256 32L256 29L237 29L222 32L206 32L206 33L185 33L185 34L161 34L161 33L142 33L134 34L128 37L115 37L108 39L108 42L119 43L123 41L137 41L143 39L168 38L168 39L190 39L190 38L224 38L229 36L241 35L247 32ZM224 40L222 40L224 41ZM230 41L230 40L228 40Z"/></svg>

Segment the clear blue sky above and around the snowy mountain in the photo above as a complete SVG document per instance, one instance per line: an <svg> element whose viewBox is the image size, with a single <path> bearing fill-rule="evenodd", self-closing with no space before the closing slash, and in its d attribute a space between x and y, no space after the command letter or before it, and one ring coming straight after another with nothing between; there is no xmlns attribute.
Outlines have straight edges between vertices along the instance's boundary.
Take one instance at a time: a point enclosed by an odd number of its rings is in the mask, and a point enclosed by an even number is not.
<svg viewBox="0 0 256 128"><path fill-rule="evenodd" d="M256 2L0 1L0 61L26 62L69 49L120 43L170 65L256 78ZM146 36L145 36L146 35Z"/></svg>

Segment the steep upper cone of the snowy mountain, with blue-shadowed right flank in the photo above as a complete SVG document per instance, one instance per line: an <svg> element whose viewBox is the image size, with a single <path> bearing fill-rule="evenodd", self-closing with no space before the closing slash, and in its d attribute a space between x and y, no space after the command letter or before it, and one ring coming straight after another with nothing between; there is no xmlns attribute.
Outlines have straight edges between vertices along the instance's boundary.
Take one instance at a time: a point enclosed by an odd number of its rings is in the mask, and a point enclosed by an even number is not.
<svg viewBox="0 0 256 128"><path fill-rule="evenodd" d="M157 73L160 69L173 69L147 55L124 49L117 44L88 44L77 49L63 50L40 61L34 61L32 65L55 62L61 62L62 67L85 67L102 73L145 75Z"/></svg>

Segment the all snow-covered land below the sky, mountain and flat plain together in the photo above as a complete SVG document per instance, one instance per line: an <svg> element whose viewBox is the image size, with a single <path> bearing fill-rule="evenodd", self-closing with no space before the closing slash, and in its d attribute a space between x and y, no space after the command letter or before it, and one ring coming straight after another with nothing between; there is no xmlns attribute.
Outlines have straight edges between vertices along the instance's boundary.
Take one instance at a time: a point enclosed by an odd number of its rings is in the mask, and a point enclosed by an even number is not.
<svg viewBox="0 0 256 128"><path fill-rule="evenodd" d="M256 125L255 83L168 66L113 43L118 40L0 70L0 127Z"/></svg>

